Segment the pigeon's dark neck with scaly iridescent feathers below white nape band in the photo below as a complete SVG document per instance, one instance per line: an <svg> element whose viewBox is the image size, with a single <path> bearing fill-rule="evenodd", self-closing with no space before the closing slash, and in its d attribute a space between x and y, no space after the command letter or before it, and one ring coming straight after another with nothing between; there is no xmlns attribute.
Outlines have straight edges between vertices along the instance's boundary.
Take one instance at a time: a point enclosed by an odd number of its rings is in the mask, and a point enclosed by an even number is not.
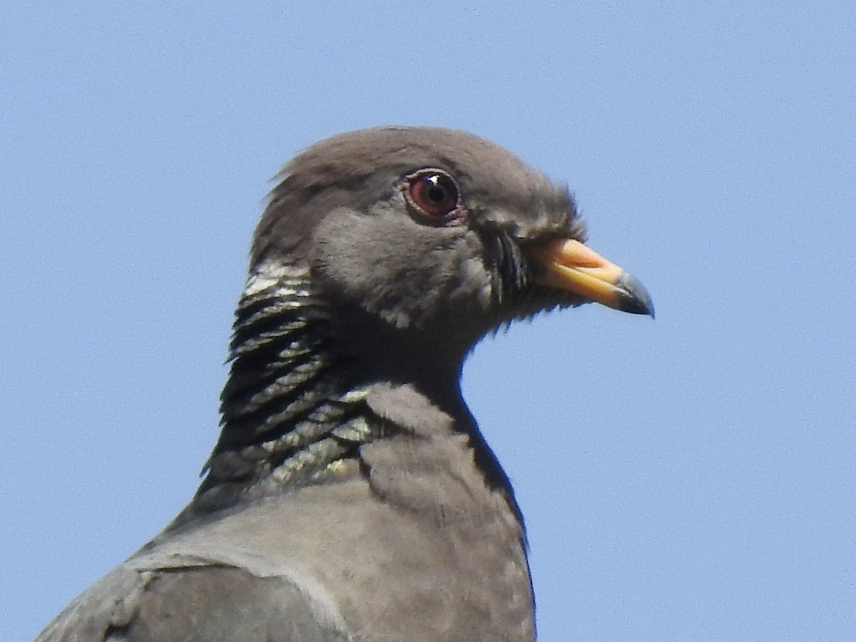
<svg viewBox="0 0 856 642"><path fill-rule="evenodd" d="M370 407L381 382L412 386L455 430L478 433L461 400L458 366L418 368L423 390L398 360L366 360L373 342L395 336L351 336L362 320L333 314L312 293L307 271L281 267L250 277L235 314L222 431L197 495L171 529L260 496L364 475L360 448L401 430Z"/></svg>

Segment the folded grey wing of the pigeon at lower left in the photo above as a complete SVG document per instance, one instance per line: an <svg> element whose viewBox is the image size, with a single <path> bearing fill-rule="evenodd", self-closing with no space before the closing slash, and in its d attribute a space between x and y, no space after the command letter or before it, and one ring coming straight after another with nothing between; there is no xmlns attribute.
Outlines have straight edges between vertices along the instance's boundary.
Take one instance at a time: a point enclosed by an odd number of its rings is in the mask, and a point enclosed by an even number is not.
<svg viewBox="0 0 856 642"><path fill-rule="evenodd" d="M70 603L36 642L349 639L305 589L281 575L210 563L177 566L175 559L164 566L131 558Z"/></svg>

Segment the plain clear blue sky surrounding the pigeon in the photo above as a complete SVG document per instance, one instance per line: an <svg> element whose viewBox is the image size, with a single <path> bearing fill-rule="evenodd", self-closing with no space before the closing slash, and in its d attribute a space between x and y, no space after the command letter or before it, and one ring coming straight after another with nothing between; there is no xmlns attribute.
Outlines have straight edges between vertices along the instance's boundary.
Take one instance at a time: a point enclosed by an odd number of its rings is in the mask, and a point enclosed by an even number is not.
<svg viewBox="0 0 856 642"><path fill-rule="evenodd" d="M384 123L567 181L657 304L545 315L467 364L539 639L856 639L856 5L2 13L0 639L192 495L267 179Z"/></svg>

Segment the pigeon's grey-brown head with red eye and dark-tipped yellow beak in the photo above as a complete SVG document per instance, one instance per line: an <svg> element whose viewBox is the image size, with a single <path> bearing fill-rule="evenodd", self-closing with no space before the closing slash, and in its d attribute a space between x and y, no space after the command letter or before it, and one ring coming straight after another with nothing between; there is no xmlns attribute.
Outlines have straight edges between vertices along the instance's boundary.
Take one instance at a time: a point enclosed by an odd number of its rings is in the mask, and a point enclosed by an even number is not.
<svg viewBox="0 0 856 642"><path fill-rule="evenodd" d="M312 292L422 345L460 353L486 332L597 300L652 313L645 289L583 244L563 186L472 134L366 129L282 170L253 274L306 268Z"/></svg>

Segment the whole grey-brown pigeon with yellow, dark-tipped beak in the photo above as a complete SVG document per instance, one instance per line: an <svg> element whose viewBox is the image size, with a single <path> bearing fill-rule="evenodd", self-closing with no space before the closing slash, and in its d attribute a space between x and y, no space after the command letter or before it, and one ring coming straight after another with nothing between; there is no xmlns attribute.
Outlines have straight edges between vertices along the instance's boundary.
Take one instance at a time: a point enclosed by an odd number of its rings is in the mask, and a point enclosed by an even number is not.
<svg viewBox="0 0 856 642"><path fill-rule="evenodd" d="M470 134L342 134L281 179L199 491L38 640L531 642L523 520L461 366L514 319L650 297L566 188Z"/></svg>

